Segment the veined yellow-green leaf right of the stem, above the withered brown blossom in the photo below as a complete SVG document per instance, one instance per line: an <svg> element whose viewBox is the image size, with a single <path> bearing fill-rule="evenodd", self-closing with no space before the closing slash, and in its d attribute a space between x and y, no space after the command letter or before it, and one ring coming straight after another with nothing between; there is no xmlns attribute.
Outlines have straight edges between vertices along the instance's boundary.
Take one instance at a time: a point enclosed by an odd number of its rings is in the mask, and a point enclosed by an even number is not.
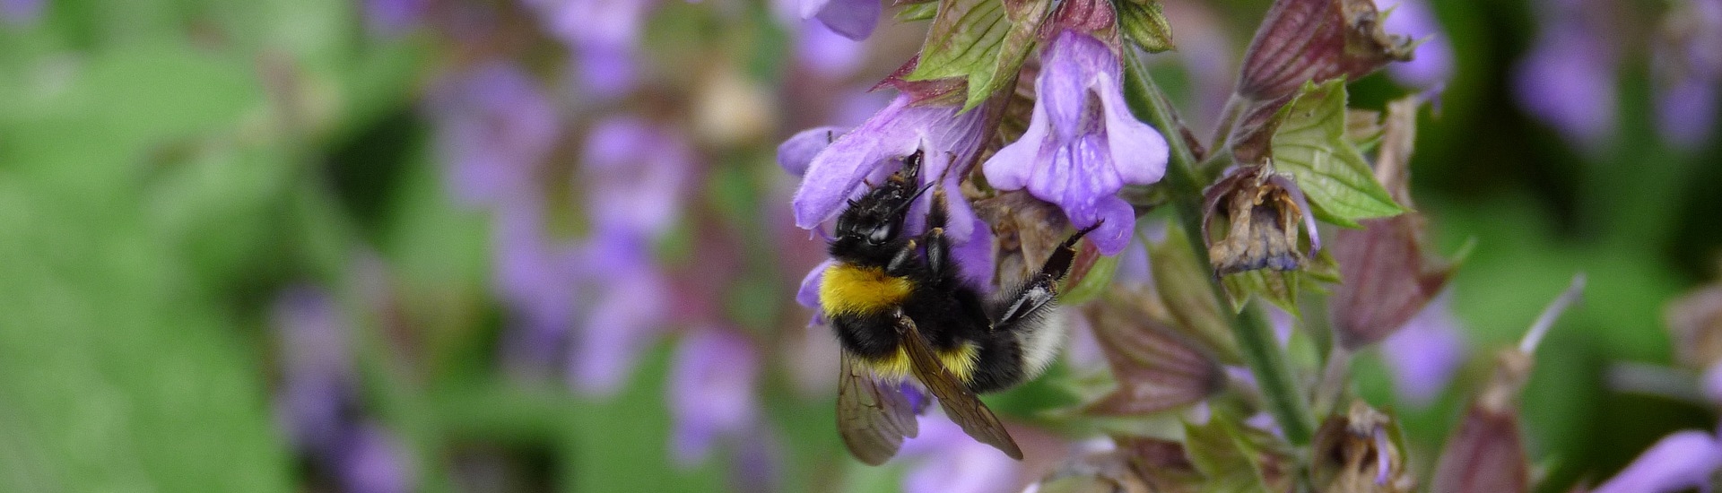
<svg viewBox="0 0 1722 493"><path fill-rule="evenodd" d="M1297 98L1274 115L1281 119L1273 138L1274 167L1292 174L1316 219L1360 228L1357 219L1405 212L1347 140L1345 115L1343 78L1319 86L1304 83Z"/></svg>

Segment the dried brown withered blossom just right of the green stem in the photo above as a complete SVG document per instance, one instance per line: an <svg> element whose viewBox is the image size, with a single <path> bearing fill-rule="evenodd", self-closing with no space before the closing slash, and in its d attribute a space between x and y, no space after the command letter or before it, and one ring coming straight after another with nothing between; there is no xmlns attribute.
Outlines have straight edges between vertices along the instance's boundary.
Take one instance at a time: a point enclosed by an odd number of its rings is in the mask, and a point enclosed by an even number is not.
<svg viewBox="0 0 1722 493"><path fill-rule="evenodd" d="M1298 222L1309 233L1309 255L1321 250L1316 219L1304 191L1273 165L1233 167L1202 191L1202 240L1217 274L1255 269L1295 271L1304 265ZM1214 240L1209 228L1226 219L1226 236Z"/></svg>

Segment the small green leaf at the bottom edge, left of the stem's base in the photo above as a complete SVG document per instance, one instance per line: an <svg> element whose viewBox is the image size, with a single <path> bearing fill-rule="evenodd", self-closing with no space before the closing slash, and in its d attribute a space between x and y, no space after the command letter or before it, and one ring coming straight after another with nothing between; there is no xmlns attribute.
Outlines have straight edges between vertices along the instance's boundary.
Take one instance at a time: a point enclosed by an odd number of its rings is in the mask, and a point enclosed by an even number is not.
<svg viewBox="0 0 1722 493"><path fill-rule="evenodd" d="M1204 493L1288 491L1286 459L1274 453L1274 440L1224 412L1202 426L1185 422L1185 453L1207 477Z"/></svg>

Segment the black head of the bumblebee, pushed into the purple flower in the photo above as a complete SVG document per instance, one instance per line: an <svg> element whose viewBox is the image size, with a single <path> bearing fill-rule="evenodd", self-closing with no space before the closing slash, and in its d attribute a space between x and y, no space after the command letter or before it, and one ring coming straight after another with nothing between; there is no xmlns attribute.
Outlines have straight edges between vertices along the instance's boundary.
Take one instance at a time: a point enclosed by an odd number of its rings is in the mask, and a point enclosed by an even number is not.
<svg viewBox="0 0 1722 493"><path fill-rule="evenodd" d="M873 186L861 198L849 200L849 209L837 215L837 231L832 240L832 253L856 253L856 250L882 250L902 236L904 217L916 197L921 197L932 183L916 188L921 174L921 152L916 150L902 159L902 169L894 172L885 183ZM882 250L883 255L894 252Z"/></svg>

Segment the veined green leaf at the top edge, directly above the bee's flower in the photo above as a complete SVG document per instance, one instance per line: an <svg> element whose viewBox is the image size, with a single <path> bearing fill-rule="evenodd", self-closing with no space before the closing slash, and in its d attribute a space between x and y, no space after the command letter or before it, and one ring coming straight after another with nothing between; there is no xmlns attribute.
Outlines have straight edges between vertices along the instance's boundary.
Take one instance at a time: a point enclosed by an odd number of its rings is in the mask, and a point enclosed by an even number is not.
<svg viewBox="0 0 1722 493"><path fill-rule="evenodd" d="M1016 78L1035 47L1049 2L945 0L921 45L921 60L904 79L968 81L963 109L973 109Z"/></svg>

